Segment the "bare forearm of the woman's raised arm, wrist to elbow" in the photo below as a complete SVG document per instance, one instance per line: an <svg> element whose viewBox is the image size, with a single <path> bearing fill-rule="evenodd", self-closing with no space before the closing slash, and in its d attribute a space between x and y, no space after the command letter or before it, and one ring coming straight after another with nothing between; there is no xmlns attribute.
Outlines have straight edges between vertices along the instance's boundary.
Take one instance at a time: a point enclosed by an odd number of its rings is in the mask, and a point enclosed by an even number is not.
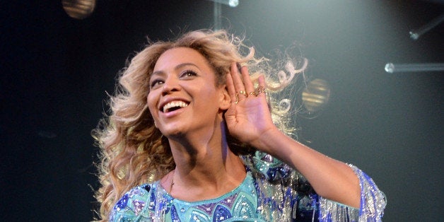
<svg viewBox="0 0 444 222"><path fill-rule="evenodd" d="M252 145L298 170L320 196L359 207L361 191L358 177L345 163L300 144L278 129L265 132Z"/></svg>

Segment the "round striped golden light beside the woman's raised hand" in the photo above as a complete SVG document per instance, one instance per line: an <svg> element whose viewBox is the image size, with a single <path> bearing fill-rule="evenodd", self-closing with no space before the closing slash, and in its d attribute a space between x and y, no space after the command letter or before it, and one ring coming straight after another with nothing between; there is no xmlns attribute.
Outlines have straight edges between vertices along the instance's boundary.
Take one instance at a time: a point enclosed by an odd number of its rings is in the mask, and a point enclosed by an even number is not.
<svg viewBox="0 0 444 222"><path fill-rule="evenodd" d="M330 98L330 87L327 81L316 78L308 83L302 92L304 107L309 112L319 111L324 107Z"/></svg>

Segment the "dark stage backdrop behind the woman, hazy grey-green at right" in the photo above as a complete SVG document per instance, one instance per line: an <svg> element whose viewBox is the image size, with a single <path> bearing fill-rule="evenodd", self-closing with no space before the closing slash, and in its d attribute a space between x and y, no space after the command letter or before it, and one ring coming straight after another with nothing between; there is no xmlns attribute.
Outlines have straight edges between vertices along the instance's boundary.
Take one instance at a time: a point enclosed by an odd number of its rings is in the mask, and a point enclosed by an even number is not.
<svg viewBox="0 0 444 222"><path fill-rule="evenodd" d="M98 1L84 20L60 1L0 3L0 221L90 221L90 136L105 92L151 40L212 28L211 1ZM440 1L265 1L222 6L223 28L267 56L296 44L332 98L301 115L300 138L358 165L388 205L384 221L443 218L443 71L387 74L387 62L444 62L444 25L409 30L443 13ZM316 116L315 118L312 118Z"/></svg>

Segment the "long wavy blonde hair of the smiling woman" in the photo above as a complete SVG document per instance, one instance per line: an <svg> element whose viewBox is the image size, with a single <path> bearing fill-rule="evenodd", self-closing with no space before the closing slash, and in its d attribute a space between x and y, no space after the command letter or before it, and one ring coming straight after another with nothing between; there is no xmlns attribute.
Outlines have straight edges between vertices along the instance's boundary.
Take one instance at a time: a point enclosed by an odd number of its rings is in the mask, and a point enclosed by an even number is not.
<svg viewBox="0 0 444 222"><path fill-rule="evenodd" d="M185 33L175 41L151 42L136 54L119 74L115 95L109 100L110 115L106 115L92 133L100 146L98 176L101 187L95 197L100 204L101 221L107 221L112 206L129 189L160 180L175 168L168 139L154 126L146 102L148 83L158 58L175 47L189 47L204 55L216 72L216 86L225 83L232 62L247 64L252 78L269 73L267 59L255 58L252 47L247 47L243 39L228 35L225 30L197 30ZM278 73L278 81L268 84L268 88L279 90L285 87L303 69L287 69L293 72L289 77L285 73L284 77L282 74L279 77ZM278 124L282 113L277 110L273 115ZM254 151L230 134L227 134L227 140L230 149L238 155Z"/></svg>

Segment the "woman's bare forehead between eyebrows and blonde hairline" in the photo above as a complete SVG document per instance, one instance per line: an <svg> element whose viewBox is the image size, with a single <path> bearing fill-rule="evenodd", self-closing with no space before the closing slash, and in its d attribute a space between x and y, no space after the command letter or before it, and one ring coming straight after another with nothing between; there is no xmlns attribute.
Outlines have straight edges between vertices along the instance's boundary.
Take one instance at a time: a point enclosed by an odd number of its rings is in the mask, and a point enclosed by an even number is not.
<svg viewBox="0 0 444 222"><path fill-rule="evenodd" d="M180 64L192 63L202 68L210 68L208 60L199 52L187 47L168 49L160 55L154 71L168 69Z"/></svg>

